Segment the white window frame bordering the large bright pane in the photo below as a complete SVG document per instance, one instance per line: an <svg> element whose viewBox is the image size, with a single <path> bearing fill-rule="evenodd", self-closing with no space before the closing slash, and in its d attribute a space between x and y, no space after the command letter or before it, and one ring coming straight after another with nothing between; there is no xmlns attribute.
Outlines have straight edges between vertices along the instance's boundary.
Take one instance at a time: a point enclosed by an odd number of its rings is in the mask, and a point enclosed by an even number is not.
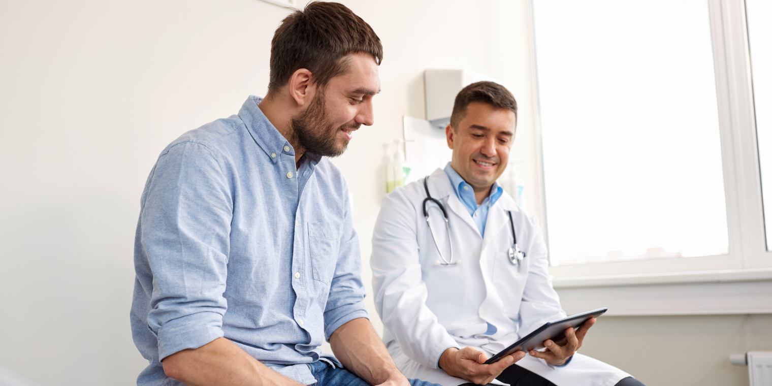
<svg viewBox="0 0 772 386"><path fill-rule="evenodd" d="M550 263L556 288L772 279L772 252L767 251L764 229L745 2L707 0L707 3L716 76L729 254L558 266ZM533 0L528 2L528 6L539 180L534 196L539 201L537 212L540 213L537 215L543 221L544 237L549 245ZM767 205L772 205L772 202Z"/></svg>

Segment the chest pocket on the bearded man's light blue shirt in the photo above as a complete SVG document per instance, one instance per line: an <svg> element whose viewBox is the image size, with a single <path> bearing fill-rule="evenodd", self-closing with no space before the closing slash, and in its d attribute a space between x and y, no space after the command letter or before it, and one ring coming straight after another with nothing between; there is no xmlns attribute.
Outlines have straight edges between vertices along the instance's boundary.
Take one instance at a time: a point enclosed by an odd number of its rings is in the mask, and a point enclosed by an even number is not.
<svg viewBox="0 0 772 386"><path fill-rule="evenodd" d="M313 279L330 284L340 247L339 227L330 222L308 224L308 246Z"/></svg>

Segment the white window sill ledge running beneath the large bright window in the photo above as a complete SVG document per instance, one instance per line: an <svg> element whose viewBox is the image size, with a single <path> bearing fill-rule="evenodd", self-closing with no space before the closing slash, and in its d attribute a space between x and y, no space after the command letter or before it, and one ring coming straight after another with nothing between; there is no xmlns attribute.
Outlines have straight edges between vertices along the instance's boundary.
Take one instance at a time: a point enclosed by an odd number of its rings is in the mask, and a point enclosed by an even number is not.
<svg viewBox="0 0 772 386"><path fill-rule="evenodd" d="M772 269L555 278L571 315L608 307L608 316L772 313Z"/></svg>

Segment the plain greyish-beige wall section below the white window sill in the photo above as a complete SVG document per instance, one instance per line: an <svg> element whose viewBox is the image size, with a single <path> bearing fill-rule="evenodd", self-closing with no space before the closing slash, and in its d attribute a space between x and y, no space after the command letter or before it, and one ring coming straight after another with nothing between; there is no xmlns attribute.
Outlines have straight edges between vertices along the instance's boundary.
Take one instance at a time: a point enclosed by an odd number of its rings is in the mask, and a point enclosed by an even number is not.
<svg viewBox="0 0 772 386"><path fill-rule="evenodd" d="M772 315L600 317L581 353L647 386L743 386L748 367L730 353L772 350Z"/></svg>

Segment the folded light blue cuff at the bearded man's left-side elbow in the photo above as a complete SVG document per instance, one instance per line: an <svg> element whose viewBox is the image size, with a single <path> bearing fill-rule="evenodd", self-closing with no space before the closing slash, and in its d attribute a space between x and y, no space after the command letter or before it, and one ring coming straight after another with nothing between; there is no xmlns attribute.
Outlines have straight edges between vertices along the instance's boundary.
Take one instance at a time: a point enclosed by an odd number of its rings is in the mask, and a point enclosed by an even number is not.
<svg viewBox="0 0 772 386"><path fill-rule="evenodd" d="M158 329L158 361L181 350L201 347L223 336L222 315L219 313L192 313L169 320Z"/></svg>

